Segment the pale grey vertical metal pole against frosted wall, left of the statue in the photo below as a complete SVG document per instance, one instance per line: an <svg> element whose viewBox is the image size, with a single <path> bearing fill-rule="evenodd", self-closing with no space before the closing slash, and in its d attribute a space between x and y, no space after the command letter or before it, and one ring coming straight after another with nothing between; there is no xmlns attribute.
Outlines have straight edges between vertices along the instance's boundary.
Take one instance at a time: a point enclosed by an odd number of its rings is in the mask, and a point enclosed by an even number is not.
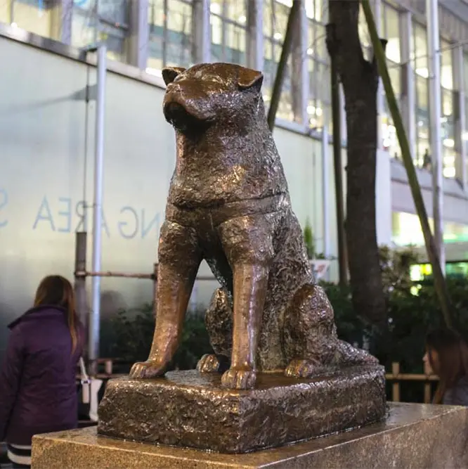
<svg viewBox="0 0 468 469"><path fill-rule="evenodd" d="M105 115L105 75L107 72L107 48L98 46L96 134L94 160L94 212L93 212L93 262L92 270L100 271L101 238L103 224L103 169L104 169L104 115ZM100 278L93 277L91 283L91 311L89 318L88 359L91 375L96 375L99 357L100 326Z"/></svg>

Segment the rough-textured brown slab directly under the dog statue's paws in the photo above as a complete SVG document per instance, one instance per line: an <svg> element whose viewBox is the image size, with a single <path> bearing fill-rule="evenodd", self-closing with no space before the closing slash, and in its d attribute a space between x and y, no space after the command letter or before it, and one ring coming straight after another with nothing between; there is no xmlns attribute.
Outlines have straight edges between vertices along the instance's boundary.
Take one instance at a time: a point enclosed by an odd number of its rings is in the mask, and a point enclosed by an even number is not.
<svg viewBox="0 0 468 469"><path fill-rule="evenodd" d="M261 374L254 390L227 390L219 374L175 371L110 380L98 434L135 442L245 453L382 420L384 368L360 366L296 380Z"/></svg>

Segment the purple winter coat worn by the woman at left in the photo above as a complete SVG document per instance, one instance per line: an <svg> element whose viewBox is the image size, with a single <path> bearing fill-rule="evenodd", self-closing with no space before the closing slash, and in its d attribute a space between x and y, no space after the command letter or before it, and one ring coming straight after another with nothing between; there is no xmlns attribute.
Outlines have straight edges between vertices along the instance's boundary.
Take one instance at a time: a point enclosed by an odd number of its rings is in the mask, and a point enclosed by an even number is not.
<svg viewBox="0 0 468 469"><path fill-rule="evenodd" d="M73 354L65 309L32 308L8 327L0 374L0 442L30 445L32 435L77 428L82 327Z"/></svg>

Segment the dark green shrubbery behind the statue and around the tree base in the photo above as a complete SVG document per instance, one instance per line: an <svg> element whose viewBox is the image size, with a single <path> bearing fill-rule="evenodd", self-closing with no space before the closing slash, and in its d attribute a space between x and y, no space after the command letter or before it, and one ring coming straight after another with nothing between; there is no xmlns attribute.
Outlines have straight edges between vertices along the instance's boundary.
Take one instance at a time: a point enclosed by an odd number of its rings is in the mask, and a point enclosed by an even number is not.
<svg viewBox="0 0 468 469"><path fill-rule="evenodd" d="M427 330L443 323L434 285L431 281L420 285L410 281L410 265L417 262L411 249L393 252L389 248L381 248L380 255L389 325L383 332L375 330L358 311L353 311L348 288L321 283L334 308L339 338L359 347L368 345L370 352L388 370L391 362L398 361L405 373L420 373ZM455 328L468 338L468 280L448 278L447 283L453 302ZM203 317L202 308L188 313L181 345L171 368L195 368L203 354L212 353ZM101 356L105 351L105 356L114 356L129 364L145 360L150 350L154 324L150 304L132 311L119 311L114 319L103 324ZM420 392L419 387L417 392ZM406 398L420 399L415 395L413 393Z"/></svg>

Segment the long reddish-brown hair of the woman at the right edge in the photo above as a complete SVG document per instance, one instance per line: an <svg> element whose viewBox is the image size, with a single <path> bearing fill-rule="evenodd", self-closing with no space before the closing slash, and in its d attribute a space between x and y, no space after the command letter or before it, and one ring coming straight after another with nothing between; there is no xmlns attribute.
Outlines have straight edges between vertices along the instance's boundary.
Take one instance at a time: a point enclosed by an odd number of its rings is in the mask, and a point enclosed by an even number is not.
<svg viewBox="0 0 468 469"><path fill-rule="evenodd" d="M429 364L439 377L434 404L441 404L446 391L455 386L462 376L468 375L468 345L456 330L440 328L427 334L426 349ZM431 351L438 354L437 367Z"/></svg>

